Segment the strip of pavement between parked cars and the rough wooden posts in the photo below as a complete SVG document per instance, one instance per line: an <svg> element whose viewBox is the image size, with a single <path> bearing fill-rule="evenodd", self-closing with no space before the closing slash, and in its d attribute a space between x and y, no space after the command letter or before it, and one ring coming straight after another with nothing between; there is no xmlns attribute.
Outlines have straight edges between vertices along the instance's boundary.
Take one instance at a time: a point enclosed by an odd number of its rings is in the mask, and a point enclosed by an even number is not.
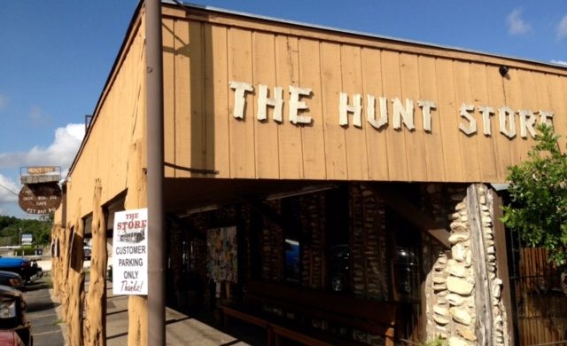
<svg viewBox="0 0 567 346"><path fill-rule="evenodd" d="M58 303L51 301L50 289L46 279L35 281L34 285L27 287L26 303L27 318L32 322L34 346L63 345L61 320L55 309Z"/></svg>

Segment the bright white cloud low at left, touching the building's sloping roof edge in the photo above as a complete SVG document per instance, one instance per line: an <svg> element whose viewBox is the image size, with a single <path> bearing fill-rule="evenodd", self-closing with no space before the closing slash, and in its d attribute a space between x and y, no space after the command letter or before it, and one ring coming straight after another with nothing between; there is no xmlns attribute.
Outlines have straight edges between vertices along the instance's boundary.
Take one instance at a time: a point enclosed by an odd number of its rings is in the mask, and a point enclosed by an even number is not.
<svg viewBox="0 0 567 346"><path fill-rule="evenodd" d="M68 124L55 130L55 139L47 147L34 146L27 153L0 153L0 169L26 166L60 166L68 169L81 145L84 124Z"/></svg>

